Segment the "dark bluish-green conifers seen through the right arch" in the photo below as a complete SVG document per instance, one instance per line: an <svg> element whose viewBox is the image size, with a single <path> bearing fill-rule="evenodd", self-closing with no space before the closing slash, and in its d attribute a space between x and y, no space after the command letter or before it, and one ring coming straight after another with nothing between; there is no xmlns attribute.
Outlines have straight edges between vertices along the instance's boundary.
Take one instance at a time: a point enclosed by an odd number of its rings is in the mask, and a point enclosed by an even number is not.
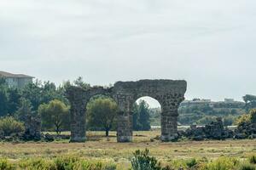
<svg viewBox="0 0 256 170"><path fill-rule="evenodd" d="M146 101L140 100L138 105L135 104L135 111L133 113L133 127L135 130L149 130L149 105Z"/></svg>

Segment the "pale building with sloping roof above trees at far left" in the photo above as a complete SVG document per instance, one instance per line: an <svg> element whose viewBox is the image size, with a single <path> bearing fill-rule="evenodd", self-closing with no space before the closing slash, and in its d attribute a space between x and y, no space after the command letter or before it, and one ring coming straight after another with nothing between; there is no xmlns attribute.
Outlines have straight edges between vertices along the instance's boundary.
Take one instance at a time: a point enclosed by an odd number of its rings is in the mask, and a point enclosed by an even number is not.
<svg viewBox="0 0 256 170"><path fill-rule="evenodd" d="M12 74L5 71L0 71L0 77L5 78L6 83L10 88L23 88L29 82L32 82L34 77L23 74Z"/></svg>

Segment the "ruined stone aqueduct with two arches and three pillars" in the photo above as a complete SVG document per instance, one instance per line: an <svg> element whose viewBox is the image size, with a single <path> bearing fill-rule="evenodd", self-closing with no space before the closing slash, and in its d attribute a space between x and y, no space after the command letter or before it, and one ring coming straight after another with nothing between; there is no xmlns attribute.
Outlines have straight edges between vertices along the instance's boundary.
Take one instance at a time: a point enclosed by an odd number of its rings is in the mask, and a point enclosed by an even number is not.
<svg viewBox="0 0 256 170"><path fill-rule="evenodd" d="M104 94L119 105L117 141L132 141L132 105L137 99L149 96L161 105L161 140L177 138L177 109L184 99L187 82L174 80L140 80L116 82L112 88L89 89L71 86L67 88L67 99L71 105L71 142L84 142L86 105L90 98Z"/></svg>

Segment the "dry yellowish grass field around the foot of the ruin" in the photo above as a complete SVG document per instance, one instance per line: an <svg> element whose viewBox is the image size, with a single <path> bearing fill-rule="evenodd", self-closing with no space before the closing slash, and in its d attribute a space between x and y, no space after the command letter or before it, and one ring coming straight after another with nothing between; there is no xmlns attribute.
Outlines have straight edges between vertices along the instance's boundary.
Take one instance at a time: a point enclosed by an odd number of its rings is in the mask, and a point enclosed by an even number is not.
<svg viewBox="0 0 256 170"><path fill-rule="evenodd" d="M132 143L117 143L115 132L109 138L104 132L87 132L88 141L82 144L68 143L60 140L52 143L0 143L0 156L11 161L27 157L55 157L63 155L77 155L86 159L111 161L121 167L130 167L131 156L135 150L148 148L150 155L161 162L175 159L189 159L192 157L214 159L218 156L234 156L244 158L256 153L256 140L211 140L211 141L179 141L161 143L159 140L150 141L159 130L149 132L134 132Z"/></svg>

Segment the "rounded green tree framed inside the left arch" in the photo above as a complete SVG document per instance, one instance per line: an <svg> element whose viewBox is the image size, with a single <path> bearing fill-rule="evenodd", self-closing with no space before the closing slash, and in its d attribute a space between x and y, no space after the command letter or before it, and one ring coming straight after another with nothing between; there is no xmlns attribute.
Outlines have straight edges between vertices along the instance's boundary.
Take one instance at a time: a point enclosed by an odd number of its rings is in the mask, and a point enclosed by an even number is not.
<svg viewBox="0 0 256 170"><path fill-rule="evenodd" d="M108 137L118 113L118 105L110 98L97 98L87 105L88 126L104 129Z"/></svg>

